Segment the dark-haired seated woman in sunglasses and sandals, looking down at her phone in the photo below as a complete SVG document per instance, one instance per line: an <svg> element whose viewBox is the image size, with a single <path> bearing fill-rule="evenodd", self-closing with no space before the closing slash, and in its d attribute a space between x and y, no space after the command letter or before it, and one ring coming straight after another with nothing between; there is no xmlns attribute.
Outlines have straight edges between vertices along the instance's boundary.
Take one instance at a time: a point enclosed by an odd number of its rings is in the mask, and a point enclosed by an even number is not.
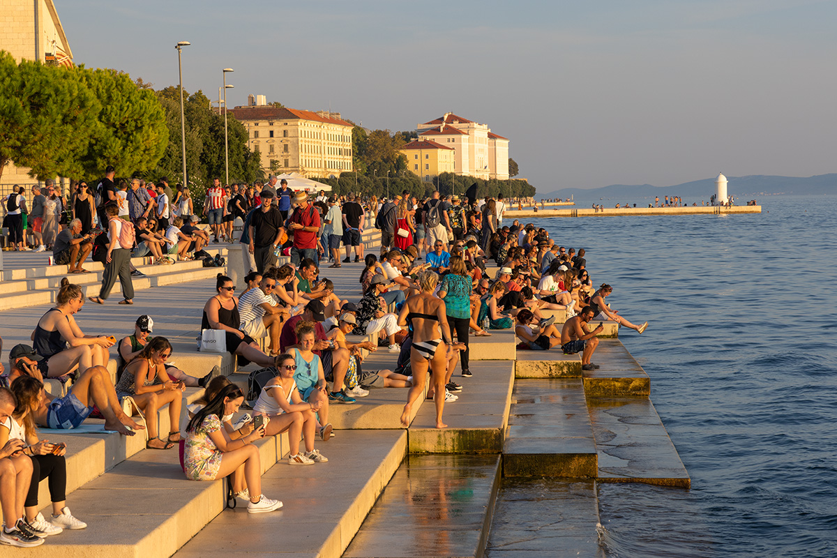
<svg viewBox="0 0 837 558"><path fill-rule="evenodd" d="M165 337L155 337L148 341L136 356L122 371L122 376L116 382L116 396L122 401L125 397L132 397L136 406L145 413L148 429L149 449L171 449L180 440L180 405L182 392L186 385L182 381L172 381L163 367L166 359L172 354L172 345ZM157 432L157 411L168 403L168 422L172 431L168 433L167 441L160 439Z"/></svg>

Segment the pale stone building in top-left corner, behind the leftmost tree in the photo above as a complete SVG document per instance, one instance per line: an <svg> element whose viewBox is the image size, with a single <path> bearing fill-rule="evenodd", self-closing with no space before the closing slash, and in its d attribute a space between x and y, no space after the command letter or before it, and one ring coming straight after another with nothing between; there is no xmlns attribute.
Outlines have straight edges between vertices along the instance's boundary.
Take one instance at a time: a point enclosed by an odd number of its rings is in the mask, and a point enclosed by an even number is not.
<svg viewBox="0 0 837 558"><path fill-rule="evenodd" d="M40 60L44 64L73 66L73 52L53 0L0 0L0 50L12 54L18 63ZM28 172L28 168L9 164L0 180L4 185L37 182Z"/></svg>

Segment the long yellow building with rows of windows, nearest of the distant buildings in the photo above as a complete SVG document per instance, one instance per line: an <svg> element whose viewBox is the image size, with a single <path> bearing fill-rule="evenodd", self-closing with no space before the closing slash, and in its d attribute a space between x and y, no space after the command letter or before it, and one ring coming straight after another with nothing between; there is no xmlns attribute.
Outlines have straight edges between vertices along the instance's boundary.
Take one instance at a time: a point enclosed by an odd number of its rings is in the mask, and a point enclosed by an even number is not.
<svg viewBox="0 0 837 558"><path fill-rule="evenodd" d="M229 115L247 128L250 151L259 151L265 172L339 177L352 171L354 126L339 112L248 105L230 109Z"/></svg>

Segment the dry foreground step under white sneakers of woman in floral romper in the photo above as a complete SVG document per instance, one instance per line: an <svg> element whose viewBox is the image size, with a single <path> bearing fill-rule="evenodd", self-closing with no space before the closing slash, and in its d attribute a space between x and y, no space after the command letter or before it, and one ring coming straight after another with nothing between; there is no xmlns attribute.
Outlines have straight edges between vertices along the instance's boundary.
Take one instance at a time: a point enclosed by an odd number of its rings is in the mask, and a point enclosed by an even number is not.
<svg viewBox="0 0 837 558"><path fill-rule="evenodd" d="M176 556L339 557L402 462L406 434L356 430L316 447L328 463L277 463L262 477L264 494L285 504L280 511L250 515L240 503L224 509Z"/></svg>

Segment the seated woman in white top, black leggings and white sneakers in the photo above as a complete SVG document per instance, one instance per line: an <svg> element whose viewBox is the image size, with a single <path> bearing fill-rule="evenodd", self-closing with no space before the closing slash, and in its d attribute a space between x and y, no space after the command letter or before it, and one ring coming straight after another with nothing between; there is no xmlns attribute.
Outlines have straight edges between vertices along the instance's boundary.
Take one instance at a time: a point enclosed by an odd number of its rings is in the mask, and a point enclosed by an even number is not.
<svg viewBox="0 0 837 558"><path fill-rule="evenodd" d="M28 448L23 453L32 458L32 480L23 503L24 518L35 535L46 537L58 535L64 529L84 529L87 524L77 520L67 507L67 461L66 446L39 440L32 413L44 402L44 384L31 376L21 376L12 382L12 393L17 406L6 422L0 423L0 448L9 440L23 440ZM43 479L49 479L49 497L52 500L52 515L44 519L38 509L38 489Z"/></svg>

